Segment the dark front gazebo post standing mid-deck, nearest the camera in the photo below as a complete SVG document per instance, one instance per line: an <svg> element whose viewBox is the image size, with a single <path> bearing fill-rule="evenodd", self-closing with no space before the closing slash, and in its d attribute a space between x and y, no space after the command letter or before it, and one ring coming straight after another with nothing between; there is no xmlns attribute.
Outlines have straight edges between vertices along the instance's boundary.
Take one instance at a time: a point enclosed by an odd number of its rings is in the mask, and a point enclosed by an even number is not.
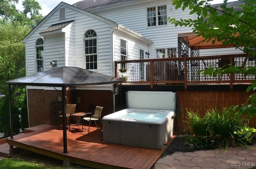
<svg viewBox="0 0 256 169"><path fill-rule="evenodd" d="M64 153L68 153L67 144L67 120L66 120L66 87L62 86L62 124L63 124L63 149Z"/></svg>

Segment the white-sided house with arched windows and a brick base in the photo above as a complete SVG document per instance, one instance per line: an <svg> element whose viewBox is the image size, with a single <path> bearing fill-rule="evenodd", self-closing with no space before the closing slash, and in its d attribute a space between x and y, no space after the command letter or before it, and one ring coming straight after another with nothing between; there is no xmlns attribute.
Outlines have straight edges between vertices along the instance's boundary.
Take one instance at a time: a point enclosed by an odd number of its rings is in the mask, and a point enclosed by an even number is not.
<svg viewBox="0 0 256 169"><path fill-rule="evenodd" d="M146 59L146 52L150 58L176 57L178 33L190 32L191 28L175 27L167 22L168 17L196 18L188 10L175 10L171 0L82 0L73 5L61 2L22 40L26 44L26 75L75 66L114 76L114 61ZM238 52L228 50L217 53ZM101 104L105 114L114 111L111 85L76 89L75 97L81 98L80 111L89 104ZM84 97L83 90L92 94ZM28 86L27 91L30 125L48 122L32 117L38 114L34 105L44 105L46 109L41 113L48 117L48 105L58 98L59 91L34 86ZM95 99L97 91L107 92L103 95L108 95L108 102L104 97ZM55 92L51 93L54 97L48 97L49 92Z"/></svg>

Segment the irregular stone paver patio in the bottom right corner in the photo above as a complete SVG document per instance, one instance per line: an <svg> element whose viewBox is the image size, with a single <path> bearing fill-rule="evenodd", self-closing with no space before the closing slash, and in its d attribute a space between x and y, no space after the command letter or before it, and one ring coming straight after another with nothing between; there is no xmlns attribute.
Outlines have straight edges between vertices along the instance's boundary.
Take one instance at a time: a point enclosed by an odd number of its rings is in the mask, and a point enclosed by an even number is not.
<svg viewBox="0 0 256 169"><path fill-rule="evenodd" d="M176 152L161 157L154 169L250 169L256 166L256 145L222 149Z"/></svg>

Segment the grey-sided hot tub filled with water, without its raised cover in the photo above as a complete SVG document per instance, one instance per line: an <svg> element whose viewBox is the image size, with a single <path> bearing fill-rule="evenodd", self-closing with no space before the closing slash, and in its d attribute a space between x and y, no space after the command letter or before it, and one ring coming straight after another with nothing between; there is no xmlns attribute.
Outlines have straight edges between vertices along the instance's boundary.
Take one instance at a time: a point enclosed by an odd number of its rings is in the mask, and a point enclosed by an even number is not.
<svg viewBox="0 0 256 169"><path fill-rule="evenodd" d="M161 149L173 134L174 111L127 108L106 115L103 140L108 143Z"/></svg>

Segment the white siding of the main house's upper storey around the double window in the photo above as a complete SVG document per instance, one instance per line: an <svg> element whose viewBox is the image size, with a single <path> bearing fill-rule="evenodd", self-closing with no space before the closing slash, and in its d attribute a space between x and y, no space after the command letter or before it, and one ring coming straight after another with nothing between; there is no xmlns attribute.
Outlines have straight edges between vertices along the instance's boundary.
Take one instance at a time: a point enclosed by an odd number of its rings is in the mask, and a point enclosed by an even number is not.
<svg viewBox="0 0 256 169"><path fill-rule="evenodd" d="M196 19L196 15L189 15L190 11L187 9L185 11L182 9L175 10L175 7L172 5L172 1L170 0L157 0L154 2L136 4L134 6L120 7L115 10L104 10L102 12L96 12L95 14L126 26L127 28L132 29L133 31L136 31L144 37L154 41L153 44L148 46L148 49L150 58L156 58L156 49L170 47L178 48L178 33L192 31L189 27L175 27L168 22L167 25L148 27L147 8L158 6L166 6L167 17L174 17L177 19ZM90 12L93 12L93 10Z"/></svg>

